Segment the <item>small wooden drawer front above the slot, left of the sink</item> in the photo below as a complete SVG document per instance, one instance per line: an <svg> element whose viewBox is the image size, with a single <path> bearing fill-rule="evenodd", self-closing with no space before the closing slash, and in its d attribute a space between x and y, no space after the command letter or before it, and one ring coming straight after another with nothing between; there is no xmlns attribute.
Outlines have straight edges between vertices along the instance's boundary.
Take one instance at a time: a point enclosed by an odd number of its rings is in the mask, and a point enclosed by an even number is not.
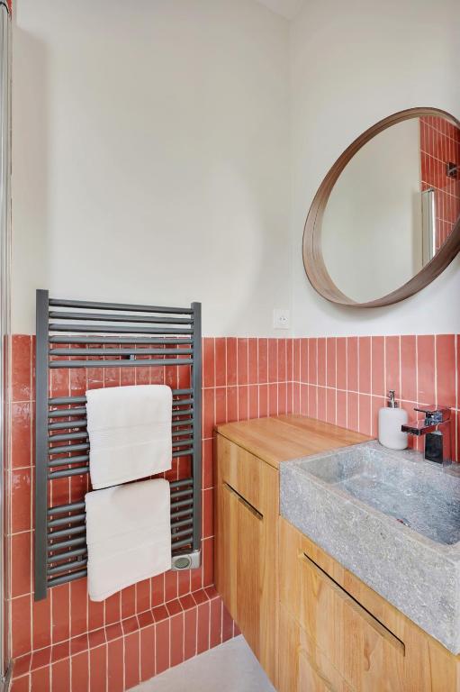
<svg viewBox="0 0 460 692"><path fill-rule="evenodd" d="M268 498L267 488L274 482L277 483L275 469L271 469L264 461L222 435L217 435L216 444L222 482L230 486L257 512L265 515L267 503L273 504L273 496ZM277 513L277 496L275 501L276 506L270 506L270 511L275 510Z"/></svg>

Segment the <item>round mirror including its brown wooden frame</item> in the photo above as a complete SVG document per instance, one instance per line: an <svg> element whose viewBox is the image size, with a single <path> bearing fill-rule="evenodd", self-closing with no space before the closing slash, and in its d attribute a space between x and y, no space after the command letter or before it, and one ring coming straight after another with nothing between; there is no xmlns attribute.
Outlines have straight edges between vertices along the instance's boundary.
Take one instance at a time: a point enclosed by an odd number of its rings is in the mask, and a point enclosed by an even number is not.
<svg viewBox="0 0 460 692"><path fill-rule="evenodd" d="M303 233L312 286L340 305L390 305L460 250L460 123L413 108L385 118L322 182Z"/></svg>

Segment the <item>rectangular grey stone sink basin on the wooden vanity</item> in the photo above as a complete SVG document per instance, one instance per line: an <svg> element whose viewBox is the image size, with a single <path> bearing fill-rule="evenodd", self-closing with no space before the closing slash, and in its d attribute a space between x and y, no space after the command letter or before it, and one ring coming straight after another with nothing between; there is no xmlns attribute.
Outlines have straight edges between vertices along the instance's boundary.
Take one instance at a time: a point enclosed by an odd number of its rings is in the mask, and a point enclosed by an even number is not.
<svg viewBox="0 0 460 692"><path fill-rule="evenodd" d="M281 514L460 652L459 465L378 442L281 465Z"/></svg>

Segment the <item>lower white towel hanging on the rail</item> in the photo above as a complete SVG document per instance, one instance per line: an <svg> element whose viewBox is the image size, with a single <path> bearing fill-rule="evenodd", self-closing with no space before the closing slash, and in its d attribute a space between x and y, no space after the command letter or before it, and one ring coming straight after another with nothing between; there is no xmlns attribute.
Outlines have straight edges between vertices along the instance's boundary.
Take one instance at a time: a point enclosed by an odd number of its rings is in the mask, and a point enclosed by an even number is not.
<svg viewBox="0 0 460 692"><path fill-rule="evenodd" d="M92 601L171 569L169 483L164 478L86 494Z"/></svg>

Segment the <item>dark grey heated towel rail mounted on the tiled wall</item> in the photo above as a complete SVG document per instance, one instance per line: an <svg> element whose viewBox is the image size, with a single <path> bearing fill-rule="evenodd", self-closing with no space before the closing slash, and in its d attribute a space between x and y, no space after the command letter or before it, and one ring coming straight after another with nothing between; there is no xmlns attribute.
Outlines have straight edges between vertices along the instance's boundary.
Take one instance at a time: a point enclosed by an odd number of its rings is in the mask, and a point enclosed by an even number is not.
<svg viewBox="0 0 460 692"><path fill-rule="evenodd" d="M201 304L182 308L61 300L38 290L35 600L45 598L50 587L86 576L89 441L86 396L78 391L86 390L86 379L75 378L74 383L71 371L104 373L99 369L107 368L120 368L121 378L123 369L151 368L160 375L153 375L153 381L166 377L178 385L173 388L172 411L177 478L169 478L173 569L200 566ZM60 377L59 372L68 375ZM129 378L132 384L133 379ZM98 386L104 386L104 378ZM52 395L63 387L70 396L50 396L50 391ZM76 389L78 396L72 396Z"/></svg>

